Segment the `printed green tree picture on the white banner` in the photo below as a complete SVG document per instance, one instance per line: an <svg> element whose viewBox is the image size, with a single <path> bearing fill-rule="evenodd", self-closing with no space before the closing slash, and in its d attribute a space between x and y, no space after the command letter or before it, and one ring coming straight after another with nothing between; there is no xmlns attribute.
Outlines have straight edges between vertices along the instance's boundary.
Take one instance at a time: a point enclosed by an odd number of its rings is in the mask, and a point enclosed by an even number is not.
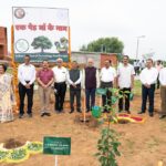
<svg viewBox="0 0 166 166"><path fill-rule="evenodd" d="M40 35L34 38L31 45L33 46L33 49L41 49L41 52L44 52L44 50L52 48L52 42L49 38Z"/></svg>

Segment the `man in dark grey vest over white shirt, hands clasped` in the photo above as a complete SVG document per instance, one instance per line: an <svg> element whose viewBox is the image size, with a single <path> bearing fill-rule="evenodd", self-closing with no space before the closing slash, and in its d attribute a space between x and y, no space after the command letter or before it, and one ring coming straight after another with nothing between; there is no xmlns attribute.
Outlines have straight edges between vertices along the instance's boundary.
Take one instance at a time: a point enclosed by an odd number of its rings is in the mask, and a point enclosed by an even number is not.
<svg viewBox="0 0 166 166"><path fill-rule="evenodd" d="M76 96L76 111L81 112L81 80L82 72L79 70L77 62L72 62L72 69L68 73L68 82L70 84L70 104L71 112L74 112L74 96Z"/></svg>

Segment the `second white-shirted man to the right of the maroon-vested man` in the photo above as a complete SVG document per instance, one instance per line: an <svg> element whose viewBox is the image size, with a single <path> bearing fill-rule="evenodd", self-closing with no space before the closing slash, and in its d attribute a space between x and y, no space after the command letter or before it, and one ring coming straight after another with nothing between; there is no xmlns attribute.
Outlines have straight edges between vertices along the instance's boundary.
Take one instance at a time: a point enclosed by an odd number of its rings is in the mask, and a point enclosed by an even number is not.
<svg viewBox="0 0 166 166"><path fill-rule="evenodd" d="M117 68L117 87L120 87L120 94L123 97L118 101L118 112L122 112L124 108L124 98L125 98L125 111L131 114L129 112L129 94L131 90L134 87L134 66L128 63L128 55L124 55L123 64L118 65Z"/></svg>

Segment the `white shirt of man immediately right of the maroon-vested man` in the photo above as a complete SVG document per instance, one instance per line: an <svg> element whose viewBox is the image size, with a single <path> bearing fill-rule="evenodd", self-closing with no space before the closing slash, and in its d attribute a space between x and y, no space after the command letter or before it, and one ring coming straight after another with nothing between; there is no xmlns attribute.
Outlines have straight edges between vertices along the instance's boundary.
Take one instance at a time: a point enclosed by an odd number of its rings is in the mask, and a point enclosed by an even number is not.
<svg viewBox="0 0 166 166"><path fill-rule="evenodd" d="M102 68L100 76L102 82L113 82L116 77L116 71L112 66L108 69Z"/></svg>

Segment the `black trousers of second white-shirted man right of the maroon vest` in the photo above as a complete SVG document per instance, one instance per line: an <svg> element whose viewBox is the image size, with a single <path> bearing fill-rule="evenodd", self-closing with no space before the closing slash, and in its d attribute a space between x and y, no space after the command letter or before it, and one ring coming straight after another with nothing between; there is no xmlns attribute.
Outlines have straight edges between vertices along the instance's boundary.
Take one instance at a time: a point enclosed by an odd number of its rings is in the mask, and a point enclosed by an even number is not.
<svg viewBox="0 0 166 166"><path fill-rule="evenodd" d="M126 92L126 93L125 93ZM129 94L131 94L131 87L124 87L120 90L120 94L123 95L118 100L118 110L123 111L124 105L124 98L125 98L125 111L129 111Z"/></svg>

